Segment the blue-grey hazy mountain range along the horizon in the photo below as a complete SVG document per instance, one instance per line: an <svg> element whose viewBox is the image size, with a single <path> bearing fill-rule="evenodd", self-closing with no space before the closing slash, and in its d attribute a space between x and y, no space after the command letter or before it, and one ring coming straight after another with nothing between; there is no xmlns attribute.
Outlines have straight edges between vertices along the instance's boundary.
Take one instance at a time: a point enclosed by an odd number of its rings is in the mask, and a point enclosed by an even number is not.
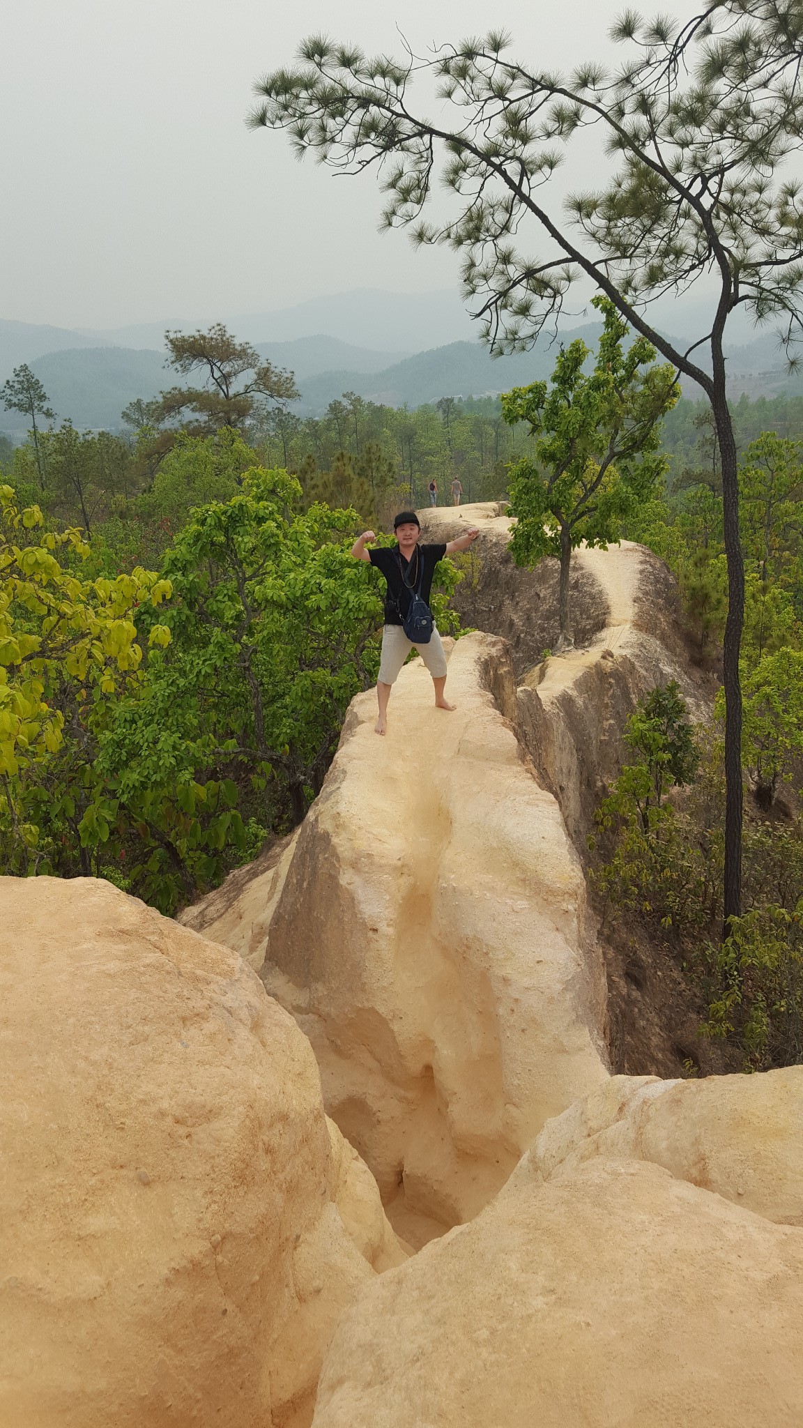
<svg viewBox="0 0 803 1428"><path fill-rule="evenodd" d="M664 330L702 331L699 304L689 300L660 316ZM60 418L116 430L123 407L156 396L174 380L164 366L166 327L193 330L213 320L173 318L101 331L0 320L0 383L26 361ZM224 321L277 367L294 371L301 400L293 410L299 416L323 413L344 391L389 406L504 391L547 377L557 350L544 337L530 353L492 358L477 341L477 324L452 290L403 294L363 288L271 313L231 314ZM579 316L577 326L569 321L560 338L583 337L593 344L599 330L597 321ZM742 391L756 397L800 390L802 378L789 377L769 330L756 336L742 323L734 336L742 338L729 350L734 398ZM697 388L687 394L697 396ZM26 423L0 410L0 428L21 440Z"/></svg>

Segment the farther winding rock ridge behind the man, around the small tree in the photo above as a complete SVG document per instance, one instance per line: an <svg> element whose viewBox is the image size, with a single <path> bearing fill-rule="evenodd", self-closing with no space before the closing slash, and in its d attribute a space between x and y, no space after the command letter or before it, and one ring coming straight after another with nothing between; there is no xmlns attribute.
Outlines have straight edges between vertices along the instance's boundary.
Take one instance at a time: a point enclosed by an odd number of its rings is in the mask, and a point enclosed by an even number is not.
<svg viewBox="0 0 803 1428"><path fill-rule="evenodd" d="M710 680L690 671L674 578L633 541L609 550L580 547L572 555L576 648L544 657L557 641L559 563L514 565L507 550L513 520L503 504L436 507L420 516L424 540L453 540L467 526L480 528L477 544L459 557L464 578L454 603L467 624L510 641L519 735L584 857L600 793L622 768L622 731L637 700L656 684L677 680L693 717L709 714Z"/></svg>

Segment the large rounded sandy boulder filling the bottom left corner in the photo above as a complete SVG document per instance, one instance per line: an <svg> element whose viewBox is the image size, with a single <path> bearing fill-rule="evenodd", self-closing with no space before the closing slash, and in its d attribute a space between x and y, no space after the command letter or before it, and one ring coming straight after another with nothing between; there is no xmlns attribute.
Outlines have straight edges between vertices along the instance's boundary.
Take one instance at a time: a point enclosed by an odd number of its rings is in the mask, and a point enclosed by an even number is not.
<svg viewBox="0 0 803 1428"><path fill-rule="evenodd" d="M107 883L1 878L0 910L0 1422L303 1428L386 1244L376 1204L343 1227L309 1042Z"/></svg>

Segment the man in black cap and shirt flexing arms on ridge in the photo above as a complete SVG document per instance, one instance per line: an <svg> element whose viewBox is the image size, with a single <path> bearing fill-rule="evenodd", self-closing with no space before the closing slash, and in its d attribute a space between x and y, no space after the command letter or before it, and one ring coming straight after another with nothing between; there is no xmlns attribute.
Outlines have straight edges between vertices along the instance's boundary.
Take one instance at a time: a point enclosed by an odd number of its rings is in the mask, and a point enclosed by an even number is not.
<svg viewBox="0 0 803 1428"><path fill-rule="evenodd" d="M422 600L429 605L432 578L439 560L450 555L453 550L467 550L480 534L476 527L470 527L459 540L450 540L443 545L420 545L422 526L414 511L399 511L399 516L393 521L393 530L396 531L396 545L366 550L366 541L376 540L373 531L363 531L351 545L351 555L381 570L387 583L384 630L381 633L381 663L376 685L379 718L374 728L377 734L384 734L387 728L390 690L396 684L399 671L413 648L419 651L432 674L436 708L449 711L454 708L454 704L449 704L443 693L446 685L446 655L437 630L433 627L432 638L427 644L414 645L404 634L404 620L410 608L413 590L420 591Z"/></svg>

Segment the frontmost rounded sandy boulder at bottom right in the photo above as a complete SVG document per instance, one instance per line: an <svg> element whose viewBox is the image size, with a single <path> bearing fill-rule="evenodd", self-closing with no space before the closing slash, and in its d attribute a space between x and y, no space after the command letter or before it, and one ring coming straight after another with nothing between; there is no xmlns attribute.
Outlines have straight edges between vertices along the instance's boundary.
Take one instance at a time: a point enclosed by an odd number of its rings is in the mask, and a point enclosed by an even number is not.
<svg viewBox="0 0 803 1428"><path fill-rule="evenodd" d="M519 1177L341 1318L314 1428L799 1428L803 1231L649 1162Z"/></svg>

